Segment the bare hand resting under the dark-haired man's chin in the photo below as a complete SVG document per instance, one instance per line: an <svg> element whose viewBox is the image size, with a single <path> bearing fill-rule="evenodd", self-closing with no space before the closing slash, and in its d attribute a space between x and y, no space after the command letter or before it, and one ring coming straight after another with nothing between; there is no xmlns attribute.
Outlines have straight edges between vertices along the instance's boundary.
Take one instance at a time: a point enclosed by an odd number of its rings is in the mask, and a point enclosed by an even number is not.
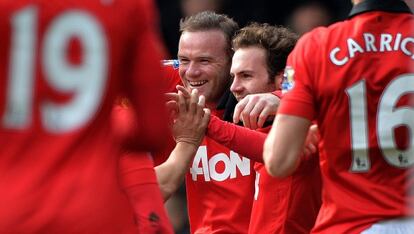
<svg viewBox="0 0 414 234"><path fill-rule="evenodd" d="M237 103L233 122L242 120L247 128L261 128L269 117L276 115L279 102L280 99L271 93L249 94Z"/></svg>

